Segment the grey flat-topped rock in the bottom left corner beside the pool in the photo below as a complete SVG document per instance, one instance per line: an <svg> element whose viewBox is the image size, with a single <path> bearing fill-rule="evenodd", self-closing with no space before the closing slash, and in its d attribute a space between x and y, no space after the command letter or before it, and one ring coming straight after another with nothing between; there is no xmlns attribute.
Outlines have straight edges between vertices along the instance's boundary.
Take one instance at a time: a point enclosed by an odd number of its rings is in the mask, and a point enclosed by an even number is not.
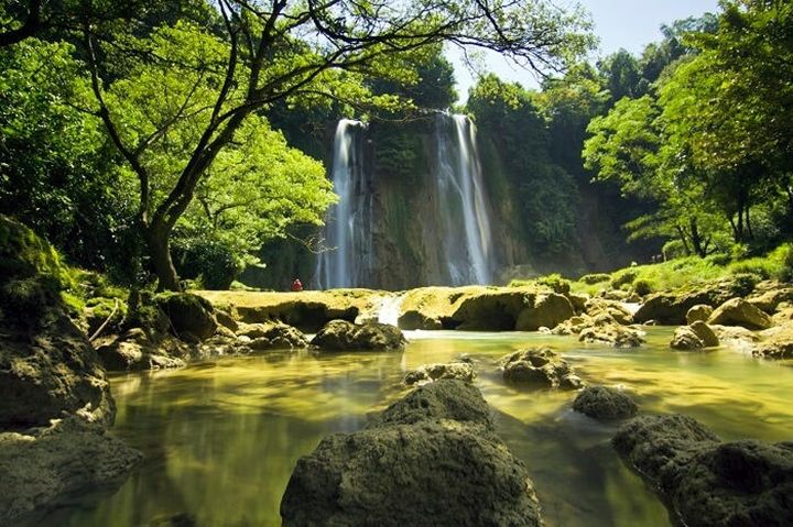
<svg viewBox="0 0 793 527"><path fill-rule="evenodd" d="M0 525L57 497L120 484L142 454L69 417L35 432L0 432Z"/></svg>

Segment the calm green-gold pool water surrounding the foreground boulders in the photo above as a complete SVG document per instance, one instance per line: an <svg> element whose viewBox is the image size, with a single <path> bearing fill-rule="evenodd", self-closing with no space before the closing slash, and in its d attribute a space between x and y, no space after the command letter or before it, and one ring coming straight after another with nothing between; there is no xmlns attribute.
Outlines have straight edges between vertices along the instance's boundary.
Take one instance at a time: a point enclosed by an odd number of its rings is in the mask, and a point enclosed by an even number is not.
<svg viewBox="0 0 793 527"><path fill-rule="evenodd" d="M404 392L405 371L468 355L498 410L499 433L529 468L546 525L671 526L661 502L611 450L618 425L572 411L575 392L503 385L496 360L530 345L561 351L589 384L624 387L643 413L684 413L724 439L793 439L790 363L729 347L674 352L671 328L650 328L649 343L637 350L540 333L408 336L403 353L273 353L113 377L113 433L145 461L120 487L80 493L30 525L280 525L297 458L327 433L361 428Z"/></svg>

